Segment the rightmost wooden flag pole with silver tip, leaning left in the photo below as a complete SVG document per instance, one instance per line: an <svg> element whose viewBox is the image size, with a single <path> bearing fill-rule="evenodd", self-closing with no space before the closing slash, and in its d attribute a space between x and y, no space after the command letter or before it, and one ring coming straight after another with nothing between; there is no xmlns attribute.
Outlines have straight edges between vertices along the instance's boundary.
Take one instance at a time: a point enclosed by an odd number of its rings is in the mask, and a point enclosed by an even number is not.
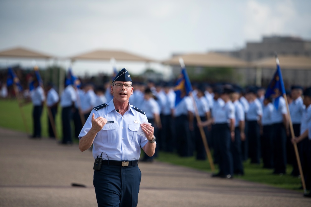
<svg viewBox="0 0 311 207"><path fill-rule="evenodd" d="M280 65L279 58L277 57L277 55L276 55L276 64ZM292 123L291 116L290 116L290 110L289 110L286 94L283 94L283 97L284 97L285 103L286 103L286 109L287 109L288 120L289 120L289 125L290 125L291 137L295 138L293 123ZM307 188L306 188L306 184L304 181L304 173L302 172L302 167L301 167L300 157L299 157L299 153L298 153L297 143L295 142L295 143L293 143L293 145L294 145L295 155L296 155L299 173L300 173L300 177L301 177L302 187L304 188L304 193L306 194Z"/></svg>

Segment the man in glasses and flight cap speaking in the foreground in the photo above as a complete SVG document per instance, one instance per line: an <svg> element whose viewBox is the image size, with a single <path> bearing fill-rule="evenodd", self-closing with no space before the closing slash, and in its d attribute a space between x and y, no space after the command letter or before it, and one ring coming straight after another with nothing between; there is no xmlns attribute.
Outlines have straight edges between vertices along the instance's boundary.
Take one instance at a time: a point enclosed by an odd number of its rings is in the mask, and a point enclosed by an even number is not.
<svg viewBox="0 0 311 207"><path fill-rule="evenodd" d="M119 71L110 88L113 99L92 110L79 134L79 149L85 151L93 144L95 160L103 159L94 171L98 206L137 206L142 175L138 159L141 148L148 156L154 154L154 128L145 112L130 106L133 87L126 69ZM138 133L140 128L145 136Z"/></svg>

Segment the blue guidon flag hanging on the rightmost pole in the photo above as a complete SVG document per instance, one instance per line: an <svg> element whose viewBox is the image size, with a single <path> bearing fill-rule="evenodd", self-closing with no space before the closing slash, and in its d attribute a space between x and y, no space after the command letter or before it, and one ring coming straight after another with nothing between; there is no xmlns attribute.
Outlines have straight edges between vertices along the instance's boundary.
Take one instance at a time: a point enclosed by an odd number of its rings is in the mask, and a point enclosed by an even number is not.
<svg viewBox="0 0 311 207"><path fill-rule="evenodd" d="M286 92L285 92L284 82L282 78L280 62L279 62L278 57L276 56L276 72L273 75L273 78L267 88L265 97L268 98L271 95L275 95L274 106L276 110L278 110L279 98L280 96L283 96L284 94L286 94Z"/></svg>

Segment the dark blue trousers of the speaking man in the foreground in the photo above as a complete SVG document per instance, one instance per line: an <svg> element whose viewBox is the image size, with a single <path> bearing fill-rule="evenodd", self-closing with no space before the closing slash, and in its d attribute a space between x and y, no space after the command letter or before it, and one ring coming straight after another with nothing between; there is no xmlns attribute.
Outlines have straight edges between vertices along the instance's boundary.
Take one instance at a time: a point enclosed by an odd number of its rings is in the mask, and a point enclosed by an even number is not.
<svg viewBox="0 0 311 207"><path fill-rule="evenodd" d="M137 165L102 165L101 170L94 170L93 185L98 206L137 206L141 178Z"/></svg>

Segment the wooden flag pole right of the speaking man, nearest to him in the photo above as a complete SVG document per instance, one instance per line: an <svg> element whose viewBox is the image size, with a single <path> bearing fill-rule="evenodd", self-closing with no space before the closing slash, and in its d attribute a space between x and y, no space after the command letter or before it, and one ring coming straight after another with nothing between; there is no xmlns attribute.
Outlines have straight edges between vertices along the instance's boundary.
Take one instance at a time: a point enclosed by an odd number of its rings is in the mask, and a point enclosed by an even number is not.
<svg viewBox="0 0 311 207"><path fill-rule="evenodd" d="M182 59L181 57L179 58L179 63L180 63L180 66L181 66L182 68L185 68L185 64L184 64L183 59ZM197 123L200 123L200 122L201 122L201 118L200 118L199 112L198 112L198 110L197 110L197 103L196 103L195 100L194 100L194 97L193 97L193 93L192 93L192 92L190 92L190 97L191 97L191 99L192 99L192 101L193 101L193 106L194 106L194 111L195 111ZM211 166L211 170L212 170L212 172L214 172L214 171L215 171L215 166L214 166L213 158L212 158L212 155L211 155L211 151L210 151L210 149L209 149L209 147L208 147L208 143L207 143L207 139L206 139L205 132L204 132L202 126L198 126L198 127L199 127L199 130L200 130L202 142L203 142L203 145L204 145L206 154L207 154L207 158L208 158L208 161L209 161L210 166Z"/></svg>

